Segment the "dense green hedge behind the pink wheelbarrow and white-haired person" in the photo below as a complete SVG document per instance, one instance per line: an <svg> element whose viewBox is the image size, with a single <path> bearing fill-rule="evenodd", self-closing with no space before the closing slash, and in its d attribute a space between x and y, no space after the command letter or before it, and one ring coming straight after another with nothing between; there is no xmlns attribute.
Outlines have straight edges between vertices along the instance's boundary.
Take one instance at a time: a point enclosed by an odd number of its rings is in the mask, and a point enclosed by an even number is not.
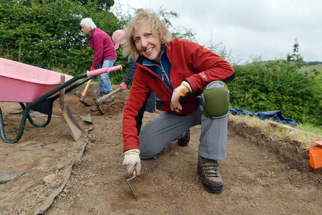
<svg viewBox="0 0 322 215"><path fill-rule="evenodd" d="M0 55L21 61L57 67L70 75L84 73L93 50L79 23L93 18L108 34L118 29L115 16L103 10L113 1L22 0L0 2ZM100 9L100 10L98 10Z"/></svg>

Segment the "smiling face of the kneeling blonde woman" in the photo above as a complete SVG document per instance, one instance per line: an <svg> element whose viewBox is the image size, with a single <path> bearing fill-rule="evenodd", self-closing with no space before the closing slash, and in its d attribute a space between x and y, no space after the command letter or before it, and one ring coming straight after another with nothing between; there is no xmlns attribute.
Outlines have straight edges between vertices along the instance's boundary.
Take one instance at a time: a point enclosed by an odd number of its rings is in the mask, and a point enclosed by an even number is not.
<svg viewBox="0 0 322 215"><path fill-rule="evenodd" d="M151 24L142 21L133 29L132 37L135 47L140 54L159 64L161 54L161 40L156 32L152 32Z"/></svg>

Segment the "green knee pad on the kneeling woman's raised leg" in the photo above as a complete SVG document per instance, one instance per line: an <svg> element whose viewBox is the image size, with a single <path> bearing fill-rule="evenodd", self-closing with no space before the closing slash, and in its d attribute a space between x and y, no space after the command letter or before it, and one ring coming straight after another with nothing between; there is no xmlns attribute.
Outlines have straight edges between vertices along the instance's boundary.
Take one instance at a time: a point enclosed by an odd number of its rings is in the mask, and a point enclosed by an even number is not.
<svg viewBox="0 0 322 215"><path fill-rule="evenodd" d="M229 90L222 81L210 82L202 91L203 113L206 116L223 116L229 111Z"/></svg>

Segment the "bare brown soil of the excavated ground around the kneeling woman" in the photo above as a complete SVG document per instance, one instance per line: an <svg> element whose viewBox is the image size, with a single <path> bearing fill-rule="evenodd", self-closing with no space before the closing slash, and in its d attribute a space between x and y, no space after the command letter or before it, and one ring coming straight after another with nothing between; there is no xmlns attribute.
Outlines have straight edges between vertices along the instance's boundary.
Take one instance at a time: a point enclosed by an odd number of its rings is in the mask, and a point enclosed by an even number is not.
<svg viewBox="0 0 322 215"><path fill-rule="evenodd" d="M44 128L28 121L16 144L0 140L0 173L20 177L0 183L0 214L321 214L322 174L309 168L296 141L276 139L229 117L227 158L219 162L224 181L220 194L208 193L197 175L200 126L190 129L187 147L172 142L157 160L143 160L133 179L136 200L122 166L122 112L128 92L103 104L100 115L92 100L86 107L74 92L65 95L84 130L74 141L55 101L51 122ZM79 87L82 91L84 87ZM8 137L21 121L16 103L0 103ZM31 113L43 122L46 115ZM79 116L90 114L91 124ZM158 113L145 113L144 121ZM60 192L61 191L61 192Z"/></svg>

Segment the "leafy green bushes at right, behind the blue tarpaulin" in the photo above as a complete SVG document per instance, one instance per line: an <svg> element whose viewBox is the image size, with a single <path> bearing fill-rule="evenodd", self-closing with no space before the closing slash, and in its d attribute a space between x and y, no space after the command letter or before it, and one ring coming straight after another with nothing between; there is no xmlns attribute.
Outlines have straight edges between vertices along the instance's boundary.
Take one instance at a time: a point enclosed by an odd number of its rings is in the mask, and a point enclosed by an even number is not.
<svg viewBox="0 0 322 215"><path fill-rule="evenodd" d="M299 122L322 125L321 79L298 72L287 60L234 66L236 78L228 83L235 108L253 112L282 110Z"/></svg>

